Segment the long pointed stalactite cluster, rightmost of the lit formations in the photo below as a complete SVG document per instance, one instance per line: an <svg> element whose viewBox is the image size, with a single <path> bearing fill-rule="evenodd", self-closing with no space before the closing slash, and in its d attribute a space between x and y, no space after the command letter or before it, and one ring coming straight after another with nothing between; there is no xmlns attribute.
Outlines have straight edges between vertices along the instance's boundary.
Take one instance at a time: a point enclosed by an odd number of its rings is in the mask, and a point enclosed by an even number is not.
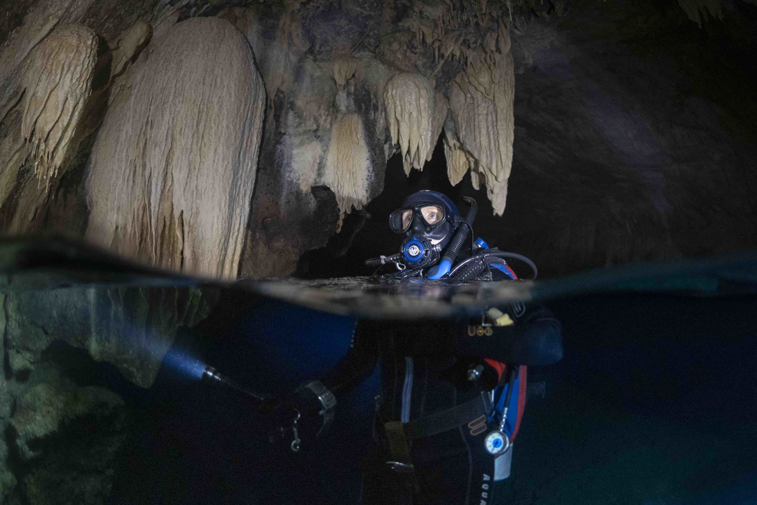
<svg viewBox="0 0 757 505"><path fill-rule="evenodd" d="M512 101L515 73L507 29L500 23L496 35L488 37L484 48L466 51L466 69L452 83L450 110L453 113L454 140L466 152L474 185L484 182L494 207L501 215L507 197L507 179L512 166L514 133ZM448 172L459 175L462 162L459 148L447 136L447 153L456 156ZM451 176L450 176L450 180Z"/></svg>

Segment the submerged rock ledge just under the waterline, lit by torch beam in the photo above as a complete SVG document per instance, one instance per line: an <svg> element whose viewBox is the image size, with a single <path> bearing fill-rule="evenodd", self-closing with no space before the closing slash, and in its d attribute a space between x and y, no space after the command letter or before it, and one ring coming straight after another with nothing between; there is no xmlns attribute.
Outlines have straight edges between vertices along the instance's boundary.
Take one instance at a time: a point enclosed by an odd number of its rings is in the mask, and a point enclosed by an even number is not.
<svg viewBox="0 0 757 505"><path fill-rule="evenodd" d="M63 288L5 296L3 331L14 373L33 369L59 339L113 363L145 388L178 327L193 326L213 303L213 295L198 288Z"/></svg>

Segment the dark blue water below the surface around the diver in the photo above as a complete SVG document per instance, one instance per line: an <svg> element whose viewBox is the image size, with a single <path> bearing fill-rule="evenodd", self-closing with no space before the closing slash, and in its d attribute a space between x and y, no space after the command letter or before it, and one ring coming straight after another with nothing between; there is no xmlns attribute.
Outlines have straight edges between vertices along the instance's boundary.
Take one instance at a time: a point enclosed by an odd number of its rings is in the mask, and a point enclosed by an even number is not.
<svg viewBox="0 0 757 505"><path fill-rule="evenodd" d="M757 503L755 301L613 295L547 304L562 321L565 354L529 367L529 382L544 382L546 394L526 405L506 503ZM271 394L328 369L354 324L278 301L228 310L180 335L173 353ZM165 361L148 390L121 383L136 425L109 503L357 503L376 374L341 401L329 433L291 454L268 444L245 397L186 368Z"/></svg>

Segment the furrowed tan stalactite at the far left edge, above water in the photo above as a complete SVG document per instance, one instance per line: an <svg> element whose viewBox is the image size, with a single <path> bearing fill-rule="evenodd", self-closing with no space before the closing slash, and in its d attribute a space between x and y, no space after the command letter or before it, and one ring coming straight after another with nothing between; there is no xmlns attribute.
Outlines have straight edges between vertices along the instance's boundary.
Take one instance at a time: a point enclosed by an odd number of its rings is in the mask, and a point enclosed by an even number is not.
<svg viewBox="0 0 757 505"><path fill-rule="evenodd" d="M7 59L13 42L8 40L0 59ZM3 232L38 231L39 214L47 211L83 140L80 130L97 63L98 39L92 30L76 24L57 29L45 25L39 44L0 82L0 91L5 85L8 92L0 94L0 103L8 99L0 111Z"/></svg>

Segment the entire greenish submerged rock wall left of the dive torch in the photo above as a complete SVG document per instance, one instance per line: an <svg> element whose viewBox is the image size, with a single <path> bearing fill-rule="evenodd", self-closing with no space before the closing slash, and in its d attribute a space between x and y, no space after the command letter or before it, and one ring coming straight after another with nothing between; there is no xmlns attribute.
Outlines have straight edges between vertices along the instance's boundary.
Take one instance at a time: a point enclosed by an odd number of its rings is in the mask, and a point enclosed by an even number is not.
<svg viewBox="0 0 757 505"><path fill-rule="evenodd" d="M169 287L0 295L2 497L104 503L128 410L118 394L76 378L105 362L150 387L179 327L203 320L215 300L212 290ZM86 354L61 354L61 342Z"/></svg>

